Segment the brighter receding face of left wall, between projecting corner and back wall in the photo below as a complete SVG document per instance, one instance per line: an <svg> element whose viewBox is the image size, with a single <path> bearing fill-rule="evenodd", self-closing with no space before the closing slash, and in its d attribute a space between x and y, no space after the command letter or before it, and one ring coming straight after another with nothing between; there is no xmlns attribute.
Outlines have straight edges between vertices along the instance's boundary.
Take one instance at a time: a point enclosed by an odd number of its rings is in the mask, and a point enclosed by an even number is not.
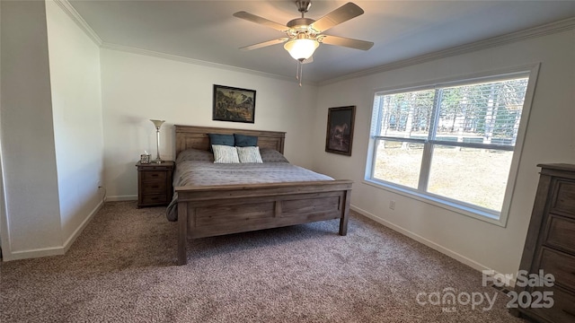
<svg viewBox="0 0 575 323"><path fill-rule="evenodd" d="M57 186L65 246L102 205L103 134L100 48L47 1Z"/></svg>

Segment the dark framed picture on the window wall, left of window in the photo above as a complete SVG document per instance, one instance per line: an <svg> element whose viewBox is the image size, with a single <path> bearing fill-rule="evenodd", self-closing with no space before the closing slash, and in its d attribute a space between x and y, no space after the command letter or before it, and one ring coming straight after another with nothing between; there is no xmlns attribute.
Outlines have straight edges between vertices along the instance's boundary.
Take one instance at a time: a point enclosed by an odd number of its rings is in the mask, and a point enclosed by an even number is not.
<svg viewBox="0 0 575 323"><path fill-rule="evenodd" d="M327 134L325 135L326 152L351 156L355 117L355 106L329 109L327 114Z"/></svg>

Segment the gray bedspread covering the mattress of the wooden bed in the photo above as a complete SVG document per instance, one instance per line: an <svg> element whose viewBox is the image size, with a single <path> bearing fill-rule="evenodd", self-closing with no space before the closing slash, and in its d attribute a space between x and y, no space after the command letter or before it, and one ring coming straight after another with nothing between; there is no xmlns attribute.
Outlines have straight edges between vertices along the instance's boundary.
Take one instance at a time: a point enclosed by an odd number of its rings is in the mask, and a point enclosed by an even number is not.
<svg viewBox="0 0 575 323"><path fill-rule="evenodd" d="M178 162L173 187L226 184L261 184L295 181L332 180L331 177L288 162L221 164L208 161ZM167 209L169 221L178 220L177 193Z"/></svg>

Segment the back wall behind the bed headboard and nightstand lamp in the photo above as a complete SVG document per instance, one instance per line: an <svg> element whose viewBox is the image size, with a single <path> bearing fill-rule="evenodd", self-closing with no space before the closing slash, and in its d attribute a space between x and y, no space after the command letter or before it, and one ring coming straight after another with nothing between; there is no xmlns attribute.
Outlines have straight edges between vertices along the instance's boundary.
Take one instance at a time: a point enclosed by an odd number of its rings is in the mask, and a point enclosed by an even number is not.
<svg viewBox="0 0 575 323"><path fill-rule="evenodd" d="M160 155L173 160L173 125L285 131L290 162L311 167L314 101L317 88L208 65L102 48L102 106L105 186L111 200L137 197L135 164L146 150L155 158L155 127ZM256 91L255 123L212 120L213 85Z"/></svg>

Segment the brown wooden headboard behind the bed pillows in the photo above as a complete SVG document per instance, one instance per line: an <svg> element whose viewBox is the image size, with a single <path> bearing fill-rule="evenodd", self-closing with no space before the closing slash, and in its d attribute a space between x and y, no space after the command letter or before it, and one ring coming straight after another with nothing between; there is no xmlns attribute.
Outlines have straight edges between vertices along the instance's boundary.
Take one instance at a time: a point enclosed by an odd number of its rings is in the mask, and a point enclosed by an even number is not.
<svg viewBox="0 0 575 323"><path fill-rule="evenodd" d="M181 126L181 125L175 125L175 128L176 128L176 157L178 156L178 154L180 154L181 151L190 148L206 150L206 151L209 150L208 134L255 135L258 137L258 146L260 146L260 148L272 148L277 150L279 153L284 153L284 140L286 139L285 132L230 129L220 127L195 127L195 126Z"/></svg>

